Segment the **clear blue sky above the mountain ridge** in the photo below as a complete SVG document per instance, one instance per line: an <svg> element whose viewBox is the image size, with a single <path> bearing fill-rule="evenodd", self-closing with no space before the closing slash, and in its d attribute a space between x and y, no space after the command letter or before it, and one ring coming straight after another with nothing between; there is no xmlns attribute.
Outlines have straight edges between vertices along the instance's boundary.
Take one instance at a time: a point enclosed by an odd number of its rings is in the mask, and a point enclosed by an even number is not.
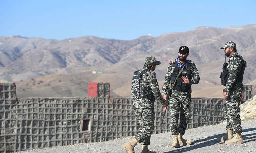
<svg viewBox="0 0 256 153"><path fill-rule="evenodd" d="M132 40L256 24L255 7L255 0L0 0L0 36Z"/></svg>

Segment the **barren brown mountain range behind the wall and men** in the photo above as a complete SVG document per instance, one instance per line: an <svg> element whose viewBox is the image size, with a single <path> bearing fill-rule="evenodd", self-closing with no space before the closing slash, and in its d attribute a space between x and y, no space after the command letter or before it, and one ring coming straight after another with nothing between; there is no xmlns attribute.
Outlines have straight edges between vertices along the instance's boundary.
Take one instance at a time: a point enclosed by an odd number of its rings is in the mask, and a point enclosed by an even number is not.
<svg viewBox="0 0 256 153"><path fill-rule="evenodd" d="M155 56L161 61L155 70L161 89L168 62L177 58L180 46L186 45L188 59L195 62L201 77L200 83L192 86L192 96L221 97L219 75L225 54L219 47L226 41L234 41L247 61L243 82L253 85L255 91L256 25L199 27L131 41L93 36L60 41L0 36L0 82L16 82L18 97L87 96L88 83L93 81L110 82L111 96L130 96L132 74L143 67L145 57Z"/></svg>

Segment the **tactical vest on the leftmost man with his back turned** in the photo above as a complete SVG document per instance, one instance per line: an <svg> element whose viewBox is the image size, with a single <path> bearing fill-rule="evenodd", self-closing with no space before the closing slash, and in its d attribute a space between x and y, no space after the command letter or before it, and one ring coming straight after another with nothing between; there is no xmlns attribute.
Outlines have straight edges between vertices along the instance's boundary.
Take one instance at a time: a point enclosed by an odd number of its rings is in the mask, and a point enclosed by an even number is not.
<svg viewBox="0 0 256 153"><path fill-rule="evenodd" d="M131 85L131 98L132 99L138 99L138 98L146 98L150 101L155 101L155 95L152 92L152 89L148 87L142 87L141 84L141 77L142 75L150 71L149 69L145 70L138 70L134 72L133 77L132 77L132 85Z"/></svg>

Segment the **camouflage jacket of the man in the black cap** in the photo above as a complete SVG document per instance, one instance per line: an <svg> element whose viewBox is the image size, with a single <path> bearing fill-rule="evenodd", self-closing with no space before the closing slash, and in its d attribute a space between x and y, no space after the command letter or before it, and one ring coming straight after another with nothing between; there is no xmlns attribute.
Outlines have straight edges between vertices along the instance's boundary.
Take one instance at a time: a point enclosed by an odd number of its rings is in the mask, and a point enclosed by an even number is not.
<svg viewBox="0 0 256 153"><path fill-rule="evenodd" d="M166 95L166 93L167 93L167 89L168 89L168 86L170 84L170 80L172 78L172 72L175 69L175 62L176 62L176 59L170 61L169 65L167 67L167 71L166 71L166 75L165 75L165 81L163 82L163 87L162 87L162 94L163 95ZM190 70L192 72L192 79L189 80L189 85L199 83L200 77L199 77L199 73L198 73L198 70L196 68L195 63L191 60L187 60L187 62L190 62ZM179 61L180 66L183 66L184 64L185 63L180 63L180 61ZM186 67L187 67L187 65L185 66L185 68ZM192 90L189 90L186 93L191 93L191 92L192 92ZM184 93L184 94L186 94L186 93Z"/></svg>

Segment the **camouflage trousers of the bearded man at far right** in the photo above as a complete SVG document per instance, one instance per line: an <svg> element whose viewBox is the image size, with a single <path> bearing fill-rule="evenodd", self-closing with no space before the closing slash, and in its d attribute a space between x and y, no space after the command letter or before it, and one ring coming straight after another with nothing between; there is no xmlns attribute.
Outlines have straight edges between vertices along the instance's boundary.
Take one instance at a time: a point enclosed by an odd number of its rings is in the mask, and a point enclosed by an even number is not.
<svg viewBox="0 0 256 153"><path fill-rule="evenodd" d="M242 132L241 119L239 115L242 93L243 88L236 88L235 90L231 89L227 95L224 117L228 121L226 128L233 130L233 133Z"/></svg>

